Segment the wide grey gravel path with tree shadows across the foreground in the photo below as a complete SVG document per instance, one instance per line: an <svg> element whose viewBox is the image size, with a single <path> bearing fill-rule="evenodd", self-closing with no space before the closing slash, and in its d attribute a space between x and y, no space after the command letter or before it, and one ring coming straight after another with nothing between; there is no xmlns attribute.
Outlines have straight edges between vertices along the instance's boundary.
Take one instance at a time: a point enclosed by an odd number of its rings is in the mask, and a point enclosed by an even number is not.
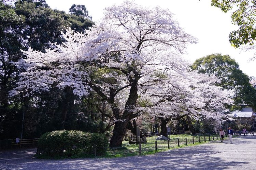
<svg viewBox="0 0 256 170"><path fill-rule="evenodd" d="M36 149L0 152L0 169L256 169L256 135L146 156L36 159Z"/></svg>

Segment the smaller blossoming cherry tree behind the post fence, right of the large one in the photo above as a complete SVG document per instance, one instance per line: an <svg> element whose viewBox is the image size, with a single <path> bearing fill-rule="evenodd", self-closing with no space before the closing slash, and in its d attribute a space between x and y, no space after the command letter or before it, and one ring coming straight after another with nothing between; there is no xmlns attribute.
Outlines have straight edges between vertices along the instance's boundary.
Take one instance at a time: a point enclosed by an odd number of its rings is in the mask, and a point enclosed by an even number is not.
<svg viewBox="0 0 256 170"><path fill-rule="evenodd" d="M168 137L168 121L186 116L220 121L226 111L225 104L232 103L227 90L213 85L219 81L217 77L188 72L186 69L175 72L175 76L172 73L160 75L145 94L150 106L148 112L161 121L160 135Z"/></svg>

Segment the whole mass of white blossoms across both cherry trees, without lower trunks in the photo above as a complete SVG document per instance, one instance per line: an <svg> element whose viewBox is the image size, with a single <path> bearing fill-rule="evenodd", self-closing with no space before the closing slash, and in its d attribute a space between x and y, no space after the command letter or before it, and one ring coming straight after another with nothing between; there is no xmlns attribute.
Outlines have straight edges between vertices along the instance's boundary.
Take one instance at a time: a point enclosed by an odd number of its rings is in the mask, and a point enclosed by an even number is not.
<svg viewBox="0 0 256 170"><path fill-rule="evenodd" d="M23 72L10 95L67 86L77 96L95 90L113 100L112 108L119 107L115 121L130 121L131 114L138 116L143 109L136 95L131 102L131 86L138 88L139 100L151 103L152 114L214 115L231 102L225 91L212 85L216 79L188 71L187 61L177 53L196 38L180 28L171 12L129 1L105 11L102 22L85 34L69 29L61 45L52 44L44 53L24 51L27 58L16 63Z"/></svg>

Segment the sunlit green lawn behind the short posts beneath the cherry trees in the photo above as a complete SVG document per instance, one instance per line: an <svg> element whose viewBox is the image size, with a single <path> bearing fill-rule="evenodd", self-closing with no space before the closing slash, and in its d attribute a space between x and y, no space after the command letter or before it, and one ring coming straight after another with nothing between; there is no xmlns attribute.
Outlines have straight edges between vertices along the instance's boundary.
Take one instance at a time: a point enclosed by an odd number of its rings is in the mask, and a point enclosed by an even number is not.
<svg viewBox="0 0 256 170"><path fill-rule="evenodd" d="M178 138L180 141L180 147L178 147ZM170 149L174 148L181 148L181 147L187 147L186 146L186 138L187 138L187 145L188 146L194 146L199 145L202 143L205 143L204 137L200 136L200 142L199 137L194 137L194 143L193 144L193 137L190 135L171 135L170 140ZM210 136L211 140L212 136ZM209 137L205 136L206 141L209 141ZM216 136L214 136L214 139L216 140ZM147 143L141 144L141 150L142 155L148 155L148 154L154 154L157 152L167 151L168 149L168 142L167 141L157 141L157 151L155 150L155 137L147 138ZM122 148L115 148L115 149L108 149L106 155L104 157L125 157L125 156L136 156L139 155L139 145L136 144L129 144L128 141L123 141L123 147Z"/></svg>

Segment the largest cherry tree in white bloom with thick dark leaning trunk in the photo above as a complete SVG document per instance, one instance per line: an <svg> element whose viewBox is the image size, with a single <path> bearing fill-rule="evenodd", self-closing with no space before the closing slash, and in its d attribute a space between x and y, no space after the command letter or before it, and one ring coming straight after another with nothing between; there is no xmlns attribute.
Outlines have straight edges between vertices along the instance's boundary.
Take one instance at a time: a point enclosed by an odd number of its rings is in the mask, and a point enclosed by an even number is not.
<svg viewBox="0 0 256 170"><path fill-rule="evenodd" d="M180 70L181 58L172 54L196 43L168 10L129 1L106 8L102 22L85 34L68 30L63 36L66 43L52 44L45 53L24 52L27 59L17 63L24 72L10 94L59 88L84 96L95 91L115 118L110 147L122 145L129 122L141 114L138 89L154 81L157 70Z"/></svg>

